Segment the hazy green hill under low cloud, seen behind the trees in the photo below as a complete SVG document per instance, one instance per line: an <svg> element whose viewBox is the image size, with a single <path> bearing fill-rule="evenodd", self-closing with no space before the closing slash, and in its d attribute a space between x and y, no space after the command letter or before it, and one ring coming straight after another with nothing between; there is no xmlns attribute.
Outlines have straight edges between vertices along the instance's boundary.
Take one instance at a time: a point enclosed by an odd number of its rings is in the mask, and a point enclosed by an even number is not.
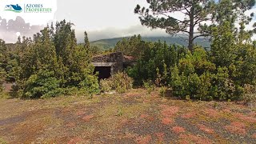
<svg viewBox="0 0 256 144"><path fill-rule="evenodd" d="M130 38L130 37L124 37L124 38ZM181 46L187 46L186 37L184 36L173 36L173 37L142 37L142 40L146 42L158 42L160 40L161 42L166 42L168 45L170 44L177 44ZM110 48L114 48L116 43L118 41L121 41L122 38L109 38L109 39L101 39L98 41L90 42L91 46L98 46L102 50L109 50ZM205 38L196 38L195 43L197 43L200 46L209 48L210 47L210 41Z"/></svg>

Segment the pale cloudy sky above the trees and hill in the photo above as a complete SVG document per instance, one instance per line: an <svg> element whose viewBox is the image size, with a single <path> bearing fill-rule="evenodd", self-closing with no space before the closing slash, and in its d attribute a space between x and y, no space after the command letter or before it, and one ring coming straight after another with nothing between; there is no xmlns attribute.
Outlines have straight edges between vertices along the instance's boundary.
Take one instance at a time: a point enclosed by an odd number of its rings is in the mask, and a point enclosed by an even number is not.
<svg viewBox="0 0 256 144"><path fill-rule="evenodd" d="M14 13L4 10L10 4L42 4L43 7L50 7L52 12ZM150 30L141 25L138 15L134 14L137 4L147 6L146 0L0 0L0 22L3 23L0 38L6 42L16 42L18 35L32 36L47 23L63 19L74 23L78 42L82 42L84 30L89 34L90 41L134 34L167 36L165 30ZM183 16L174 14L174 17ZM3 26L5 23L8 26Z"/></svg>

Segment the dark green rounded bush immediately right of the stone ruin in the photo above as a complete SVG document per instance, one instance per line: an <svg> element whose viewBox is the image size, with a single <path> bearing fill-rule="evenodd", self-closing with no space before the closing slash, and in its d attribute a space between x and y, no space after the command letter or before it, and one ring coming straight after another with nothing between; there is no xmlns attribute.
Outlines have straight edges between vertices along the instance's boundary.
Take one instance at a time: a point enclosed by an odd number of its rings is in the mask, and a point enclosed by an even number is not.
<svg viewBox="0 0 256 144"><path fill-rule="evenodd" d="M135 85L142 85L142 82L148 80L158 86L166 85L170 81L170 66L178 63L178 59L183 58L186 53L186 48L182 46L167 46L162 42L150 43L150 47L143 51L135 66L126 71L134 78Z"/></svg>

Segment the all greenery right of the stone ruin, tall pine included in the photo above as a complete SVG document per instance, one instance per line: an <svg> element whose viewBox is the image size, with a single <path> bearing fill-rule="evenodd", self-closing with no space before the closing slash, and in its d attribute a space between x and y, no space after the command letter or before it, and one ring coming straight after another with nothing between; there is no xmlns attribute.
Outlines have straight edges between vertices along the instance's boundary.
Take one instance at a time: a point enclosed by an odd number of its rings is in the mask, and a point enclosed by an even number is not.
<svg viewBox="0 0 256 144"><path fill-rule="evenodd" d="M162 28L169 34L188 33L190 51L180 53L178 49L168 49L165 43L154 43L127 70L135 84L151 80L157 86L171 86L179 98L221 101L239 100L246 84L255 86L256 50L251 41L255 29L246 30L254 14L245 14L254 6L253 0L147 2L148 9L137 6L134 10L140 14L142 25ZM174 18L174 12L188 17ZM208 20L212 21L209 26L202 25ZM234 25L236 22L239 28ZM201 34L194 34L195 27ZM209 51L193 44L200 36L211 38Z"/></svg>

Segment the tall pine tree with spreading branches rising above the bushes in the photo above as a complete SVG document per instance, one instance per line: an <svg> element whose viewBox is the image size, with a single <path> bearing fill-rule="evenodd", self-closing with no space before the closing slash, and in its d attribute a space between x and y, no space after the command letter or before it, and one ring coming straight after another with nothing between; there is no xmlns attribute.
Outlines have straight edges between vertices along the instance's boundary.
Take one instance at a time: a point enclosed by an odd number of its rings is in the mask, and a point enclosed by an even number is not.
<svg viewBox="0 0 256 144"><path fill-rule="evenodd" d="M211 27L215 22L225 22L238 17L244 17L243 12L254 6L254 0L147 0L149 8L137 5L135 14L139 14L142 25L165 29L168 34L179 32L188 34L188 47L193 50L194 39L210 35ZM223 9L225 7L225 9ZM175 15L183 14L177 18ZM210 26L206 25L210 22ZM198 30L197 30L198 29Z"/></svg>

